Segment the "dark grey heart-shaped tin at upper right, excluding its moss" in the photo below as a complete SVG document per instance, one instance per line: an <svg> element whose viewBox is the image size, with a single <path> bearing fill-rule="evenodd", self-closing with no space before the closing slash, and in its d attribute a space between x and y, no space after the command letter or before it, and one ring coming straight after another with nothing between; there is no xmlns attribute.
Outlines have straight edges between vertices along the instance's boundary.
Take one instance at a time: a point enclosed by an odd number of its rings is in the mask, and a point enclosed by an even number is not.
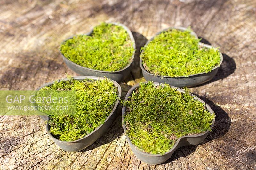
<svg viewBox="0 0 256 170"><path fill-rule="evenodd" d="M183 27L170 27L170 28L167 28L167 29L164 29L163 31L160 31L158 32L156 35L160 34L161 32L164 32L168 29L177 29L177 30L181 30L181 31L184 31L186 30L186 28L183 28ZM197 35L195 32L191 32L192 35L194 35L196 38ZM156 36L155 35L155 36ZM154 37L155 37L154 36ZM152 41L154 39L154 37L152 37L148 42L147 44ZM147 45L146 44L146 45ZM212 46L208 45L208 44L204 44L204 43L200 43L199 42L199 45L201 46L204 46L206 48L212 48ZM141 53L143 53L144 51L142 50ZM223 61L223 56L222 54L220 53L220 65ZM185 76L180 76L180 77L169 77L169 76L159 76L159 75L154 75L154 74L151 74L149 73L147 70L145 70L145 68L143 67L142 65L142 59L140 58L140 68L142 69L142 74L144 76L144 78L147 80L147 81L154 81L154 82L159 82L159 83L167 83L167 84L170 84L172 86L175 86L175 87L193 87L193 86L197 86L199 84L203 84L207 81L210 81L218 72L219 68L220 68L220 65L219 66L216 66L214 67L210 72L208 73L205 73L205 72L202 72L202 73L198 73L198 74L192 74L192 75L188 75L188 77L185 77Z"/></svg>

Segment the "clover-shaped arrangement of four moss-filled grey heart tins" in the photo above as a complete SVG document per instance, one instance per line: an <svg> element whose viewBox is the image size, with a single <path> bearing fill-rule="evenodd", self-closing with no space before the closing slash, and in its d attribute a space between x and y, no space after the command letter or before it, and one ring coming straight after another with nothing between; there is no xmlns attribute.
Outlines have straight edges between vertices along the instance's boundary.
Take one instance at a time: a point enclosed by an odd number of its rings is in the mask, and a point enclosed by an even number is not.
<svg viewBox="0 0 256 170"><path fill-rule="evenodd" d="M100 138L120 114L120 101L124 133L143 162L163 163L179 147L206 138L215 114L185 86L211 80L223 60L220 51L201 43L190 28L165 29L141 49L140 68L148 82L136 84L121 100L117 82L130 74L135 50L132 32L119 23L101 23L61 43L66 65L84 76L50 82L38 90L78 92L75 115L41 116L62 149L80 151Z"/></svg>

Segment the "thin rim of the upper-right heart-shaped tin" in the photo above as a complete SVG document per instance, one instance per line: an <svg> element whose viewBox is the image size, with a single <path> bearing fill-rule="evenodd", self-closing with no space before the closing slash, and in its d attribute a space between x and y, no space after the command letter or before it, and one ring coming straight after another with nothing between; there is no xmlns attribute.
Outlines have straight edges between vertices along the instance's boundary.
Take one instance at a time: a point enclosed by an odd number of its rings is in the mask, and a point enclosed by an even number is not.
<svg viewBox="0 0 256 170"><path fill-rule="evenodd" d="M169 27L169 28L166 28L166 29L164 29L164 30L162 30L162 31L160 31L160 32L157 32L151 39L149 39L149 40L147 41L147 43L145 44L145 46L147 46L148 43L149 43L150 41L152 41L157 35L159 35L159 34L162 33L162 32L165 32L166 30L169 30L169 29L177 29L177 30L181 30L181 31L186 30L185 27ZM197 34L196 34L195 32L193 32L193 31L191 32L191 35L194 35L196 38L198 38ZM202 42L199 42L198 45L204 46L204 47L206 47L206 48L213 48L213 46L208 45L208 44L204 44L204 43L202 43ZM143 52L144 52L144 50L141 51L141 54L142 54ZM140 55L141 55L141 54L140 54ZM220 65L222 64L222 62L223 62L223 55L222 55L222 53L220 52L220 64L219 64L218 66L215 66L214 68L212 68L211 71L213 71L213 70L219 68ZM159 77L159 78L189 78L189 77L193 77L193 76L197 76L197 75L201 75L201 74L206 74L206 72L204 71L204 72L202 72L202 73L190 74L190 75L188 75L188 76L179 76L179 77L170 77L170 76L155 75L155 74L149 73L149 72L144 68L144 66L142 65L142 59L141 59L141 57L140 57L140 68L142 69L142 71L146 72L147 74L150 74L150 75L152 75L152 76L156 76L156 77ZM209 72L208 72L208 73L209 73Z"/></svg>

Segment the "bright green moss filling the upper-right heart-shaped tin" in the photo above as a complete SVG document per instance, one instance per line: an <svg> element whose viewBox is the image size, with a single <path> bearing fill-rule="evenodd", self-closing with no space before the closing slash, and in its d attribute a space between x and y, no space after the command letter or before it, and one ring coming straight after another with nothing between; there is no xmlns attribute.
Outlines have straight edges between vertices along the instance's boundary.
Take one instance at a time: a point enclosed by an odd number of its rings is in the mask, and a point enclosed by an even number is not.
<svg viewBox="0 0 256 170"><path fill-rule="evenodd" d="M220 63L216 48L199 46L200 39L190 34L191 29L167 30L157 35L142 49L144 68L155 75L188 77L191 74L210 72Z"/></svg>

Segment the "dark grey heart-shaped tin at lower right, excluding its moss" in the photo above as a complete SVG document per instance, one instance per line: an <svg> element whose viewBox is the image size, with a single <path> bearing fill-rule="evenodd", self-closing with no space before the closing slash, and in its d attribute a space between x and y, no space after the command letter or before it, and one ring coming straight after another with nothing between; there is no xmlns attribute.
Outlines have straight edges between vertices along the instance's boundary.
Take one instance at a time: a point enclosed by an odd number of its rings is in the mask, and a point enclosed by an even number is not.
<svg viewBox="0 0 256 170"><path fill-rule="evenodd" d="M147 83L147 82L145 82ZM159 86L159 85L163 85L162 83L157 83L154 82L155 85ZM128 92L127 95L125 96L125 101L128 100L128 97L132 95L132 92L135 91L135 89L137 89L139 87L139 84L134 85ZM171 86L172 88L177 89L178 91L184 93L183 89ZM195 96L193 94L191 94L192 96ZM194 97L195 100L199 100L202 103L205 103L203 100L201 100L198 97ZM210 106L208 104L206 104L206 108L207 110L211 113L214 114L214 112L212 111L212 109L210 108ZM126 112L126 106L123 106L122 109L122 121L124 121L124 114ZM210 128L212 129L213 125L214 125L214 121L215 119L212 120L212 125L210 126ZM123 124L123 128L124 128L124 133L126 133L126 125ZM202 141L204 141L204 139L207 137L209 133L209 130L205 131L204 133L200 133L200 134L196 134L196 135L186 135L186 136L182 136L180 137L174 144L174 146L172 147L172 149L170 149L168 152L165 152L163 155L162 154L150 154L150 153L146 153L146 152L142 152L139 149L137 149L137 147L135 145L132 144L130 138L126 135L127 141L132 149L132 152L137 156L138 159L140 159L142 162L145 162L147 164L161 164L163 162L165 162L166 160L168 160L174 151L176 151L178 148L182 147L182 146L187 146L187 145L197 145L199 143L201 143Z"/></svg>

